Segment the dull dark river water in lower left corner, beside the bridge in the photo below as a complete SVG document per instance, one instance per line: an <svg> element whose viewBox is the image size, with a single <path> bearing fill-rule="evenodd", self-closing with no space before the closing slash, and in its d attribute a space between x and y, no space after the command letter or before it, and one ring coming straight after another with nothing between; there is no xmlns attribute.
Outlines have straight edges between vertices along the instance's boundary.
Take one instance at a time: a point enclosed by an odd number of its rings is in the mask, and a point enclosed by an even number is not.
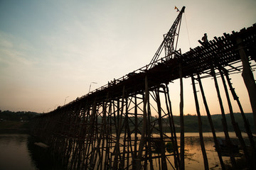
<svg viewBox="0 0 256 170"><path fill-rule="evenodd" d="M0 134L0 170L65 169L35 142L36 138L26 134Z"/></svg>

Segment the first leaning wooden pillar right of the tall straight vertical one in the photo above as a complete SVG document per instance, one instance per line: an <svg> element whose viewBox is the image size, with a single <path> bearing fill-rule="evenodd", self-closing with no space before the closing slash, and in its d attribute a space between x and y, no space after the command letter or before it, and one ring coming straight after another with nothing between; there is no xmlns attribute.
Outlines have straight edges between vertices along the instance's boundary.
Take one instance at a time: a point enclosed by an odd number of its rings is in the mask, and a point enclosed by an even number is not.
<svg viewBox="0 0 256 170"><path fill-rule="evenodd" d="M195 79L194 79L193 75L191 75L191 79L192 79L192 86L193 86L193 94L194 94L195 103L196 103L196 113L198 115L198 128L199 128L201 151L202 151L202 154L203 154L203 163L204 163L205 169L209 169L208 159L207 159L207 154L206 154L206 148L205 148L204 143L203 143L203 128L202 128L201 113L200 113L200 108L199 108L199 104L198 104L198 97L197 97L197 94L196 94Z"/></svg>

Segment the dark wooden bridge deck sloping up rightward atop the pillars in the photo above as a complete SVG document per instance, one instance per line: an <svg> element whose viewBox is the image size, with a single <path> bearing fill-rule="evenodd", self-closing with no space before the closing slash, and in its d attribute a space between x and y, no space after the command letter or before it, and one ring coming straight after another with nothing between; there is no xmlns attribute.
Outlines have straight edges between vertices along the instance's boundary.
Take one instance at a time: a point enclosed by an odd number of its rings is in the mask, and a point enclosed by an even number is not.
<svg viewBox="0 0 256 170"><path fill-rule="evenodd" d="M240 62L237 40L242 40L244 48L249 60L255 60L256 54L256 24L247 29L242 29L240 32L230 34L224 33L222 37L214 38L207 43L201 43L201 46L195 47L183 55L176 54L171 60L165 61L163 58L157 61L157 64L151 69L147 69L149 65L137 69L132 76L128 74L120 79L115 80L112 84L90 92L75 101L68 103L66 106L78 101L94 102L102 101L106 98L119 98L122 96L123 86L125 86L126 95L138 94L144 91L144 77L149 79L149 89L152 89L160 84L168 84L179 78L179 65L182 67L183 77L190 77L192 74L209 73L210 67L228 67L229 72L239 71L240 67L235 67L233 64Z"/></svg>

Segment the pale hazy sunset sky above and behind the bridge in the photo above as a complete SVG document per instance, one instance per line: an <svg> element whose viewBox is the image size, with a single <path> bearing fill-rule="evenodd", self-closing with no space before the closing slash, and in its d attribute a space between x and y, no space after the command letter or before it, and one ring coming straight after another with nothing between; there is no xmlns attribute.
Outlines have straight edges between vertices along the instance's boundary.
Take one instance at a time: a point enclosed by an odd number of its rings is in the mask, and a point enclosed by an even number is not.
<svg viewBox="0 0 256 170"><path fill-rule="evenodd" d="M212 40L256 23L255 0L0 0L0 110L53 111L149 64L178 15L174 6L186 6L183 53L204 33ZM231 78L251 112L241 75ZM220 113L213 84L203 80L210 111ZM178 114L178 81L170 94ZM184 98L184 113L195 114L191 79L184 79Z"/></svg>

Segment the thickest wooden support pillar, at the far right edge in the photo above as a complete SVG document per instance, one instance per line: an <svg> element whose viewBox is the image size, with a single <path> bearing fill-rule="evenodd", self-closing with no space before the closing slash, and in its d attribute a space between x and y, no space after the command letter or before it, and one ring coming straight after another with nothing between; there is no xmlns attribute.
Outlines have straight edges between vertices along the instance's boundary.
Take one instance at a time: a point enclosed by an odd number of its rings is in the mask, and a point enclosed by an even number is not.
<svg viewBox="0 0 256 170"><path fill-rule="evenodd" d="M242 78L245 82L245 86L247 88L249 98L250 98L250 103L252 107L252 113L253 113L253 120L255 124L255 132L256 132L256 84L255 84L255 79L252 74L252 70L250 69L250 63L248 60L248 57L245 54L245 50L243 49L242 46L242 39L237 38L236 40L238 44L238 51L239 55L242 61Z"/></svg>

